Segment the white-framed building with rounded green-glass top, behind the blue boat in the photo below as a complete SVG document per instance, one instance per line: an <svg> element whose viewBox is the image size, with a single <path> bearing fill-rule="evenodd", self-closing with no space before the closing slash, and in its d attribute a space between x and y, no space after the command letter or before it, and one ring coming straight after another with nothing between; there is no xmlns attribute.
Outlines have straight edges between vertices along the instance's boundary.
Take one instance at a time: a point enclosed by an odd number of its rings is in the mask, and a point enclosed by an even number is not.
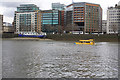
<svg viewBox="0 0 120 80"><path fill-rule="evenodd" d="M34 4L22 4L17 7L14 17L16 33L40 33L41 11Z"/></svg>

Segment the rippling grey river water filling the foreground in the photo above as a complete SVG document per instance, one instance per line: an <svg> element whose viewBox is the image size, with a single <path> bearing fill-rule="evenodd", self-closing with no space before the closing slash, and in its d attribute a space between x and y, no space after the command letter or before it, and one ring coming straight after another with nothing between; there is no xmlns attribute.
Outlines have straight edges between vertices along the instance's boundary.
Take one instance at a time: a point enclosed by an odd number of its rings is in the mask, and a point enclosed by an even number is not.
<svg viewBox="0 0 120 80"><path fill-rule="evenodd" d="M118 78L118 43L3 40L3 78Z"/></svg>

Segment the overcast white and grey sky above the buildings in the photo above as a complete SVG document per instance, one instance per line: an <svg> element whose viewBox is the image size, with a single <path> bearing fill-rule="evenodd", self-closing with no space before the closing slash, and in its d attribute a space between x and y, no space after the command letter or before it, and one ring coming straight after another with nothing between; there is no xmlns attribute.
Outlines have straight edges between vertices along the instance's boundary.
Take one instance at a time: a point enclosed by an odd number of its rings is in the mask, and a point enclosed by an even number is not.
<svg viewBox="0 0 120 80"><path fill-rule="evenodd" d="M100 4L103 9L103 20L107 18L107 8L115 6L120 0L73 0L74 2L89 2ZM20 4L36 4L41 10L51 9L51 3L60 2L69 5L72 0L0 0L0 14L4 15L3 21L12 23L14 11Z"/></svg>

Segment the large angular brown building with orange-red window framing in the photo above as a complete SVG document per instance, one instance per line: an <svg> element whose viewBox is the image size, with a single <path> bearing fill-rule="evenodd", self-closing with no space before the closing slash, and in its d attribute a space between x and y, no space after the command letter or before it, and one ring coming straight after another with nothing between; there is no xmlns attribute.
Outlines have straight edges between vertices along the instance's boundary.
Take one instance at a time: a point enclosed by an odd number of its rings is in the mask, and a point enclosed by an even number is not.
<svg viewBox="0 0 120 80"><path fill-rule="evenodd" d="M67 18L69 15L72 16ZM77 24L78 30L84 33L101 32L102 8L99 4L75 2L66 7L66 22L67 21L70 21L69 23L72 24Z"/></svg>

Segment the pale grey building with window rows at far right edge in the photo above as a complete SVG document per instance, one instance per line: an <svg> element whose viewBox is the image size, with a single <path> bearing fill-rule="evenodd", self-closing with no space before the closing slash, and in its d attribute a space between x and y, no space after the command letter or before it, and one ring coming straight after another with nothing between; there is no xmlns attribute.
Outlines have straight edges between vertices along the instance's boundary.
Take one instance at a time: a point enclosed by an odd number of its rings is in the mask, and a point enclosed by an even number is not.
<svg viewBox="0 0 120 80"><path fill-rule="evenodd" d="M107 10L107 34L120 32L120 2Z"/></svg>

